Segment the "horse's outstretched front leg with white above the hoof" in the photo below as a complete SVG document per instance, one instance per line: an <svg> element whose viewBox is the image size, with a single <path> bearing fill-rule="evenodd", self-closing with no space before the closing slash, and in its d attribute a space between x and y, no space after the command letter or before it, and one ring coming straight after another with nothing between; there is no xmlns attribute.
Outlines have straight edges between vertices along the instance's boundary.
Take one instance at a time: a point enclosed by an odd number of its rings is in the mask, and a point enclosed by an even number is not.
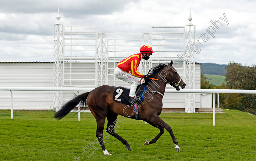
<svg viewBox="0 0 256 161"><path fill-rule="evenodd" d="M175 145L175 150L177 151L177 152L180 152L180 146L179 146L179 144L178 144L178 141L177 141L177 139L175 138L175 136L174 136L174 134L173 134L173 132L172 132L172 128L168 125L168 124L166 124L157 114L154 114L153 116L151 116L149 119L148 119L148 122L151 122L151 123L154 123L154 125L156 125L156 126L158 126L158 128L159 127L162 127L162 128L165 128L169 133L170 133L170 135L171 135L171 137L172 137L172 141L173 141L173 143L174 143L174 145ZM160 128L159 128L160 129ZM161 133L161 132L160 132ZM160 134L159 133L159 134ZM159 135L158 134L158 135ZM162 135L162 134L161 134ZM161 136L160 135L160 136ZM160 137L159 136L159 137ZM158 137L158 138L159 138ZM157 137L156 137L157 138ZM158 139L157 138L157 139ZM147 142L147 141L146 141ZM145 142L145 144L146 144L146 142ZM150 143L150 142L149 142Z"/></svg>

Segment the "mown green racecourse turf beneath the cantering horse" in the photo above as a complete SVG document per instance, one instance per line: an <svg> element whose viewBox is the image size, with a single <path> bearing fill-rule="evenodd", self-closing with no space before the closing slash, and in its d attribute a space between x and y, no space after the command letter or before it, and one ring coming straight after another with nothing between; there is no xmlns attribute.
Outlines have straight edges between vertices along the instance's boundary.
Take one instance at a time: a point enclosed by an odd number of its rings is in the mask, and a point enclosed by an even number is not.
<svg viewBox="0 0 256 161"><path fill-rule="evenodd" d="M216 114L215 127L212 114L162 113L160 117L172 127L180 153L165 133L155 143L144 146L153 139L157 128L143 121L119 116L123 121L117 134L131 146L131 151L111 135L104 139L112 156L105 156L96 145L96 120L91 113L70 113L60 121L53 111L0 110L0 160L255 160L256 117L236 110ZM105 123L106 127L106 123ZM104 132L104 135L105 132ZM93 149L85 154L83 148Z"/></svg>

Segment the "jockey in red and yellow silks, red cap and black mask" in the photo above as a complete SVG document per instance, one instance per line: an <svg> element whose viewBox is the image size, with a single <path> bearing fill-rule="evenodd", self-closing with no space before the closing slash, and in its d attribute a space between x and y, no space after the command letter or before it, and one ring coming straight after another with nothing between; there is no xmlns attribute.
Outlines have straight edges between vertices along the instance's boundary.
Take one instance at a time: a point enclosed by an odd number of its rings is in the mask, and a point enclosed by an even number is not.
<svg viewBox="0 0 256 161"><path fill-rule="evenodd" d="M152 55L152 53L154 53L152 50L152 47L148 45L143 45L140 48L140 53L131 55L130 57L116 64L117 67L114 71L114 75L117 78L132 84L130 89L130 94L129 94L130 104L133 104L133 102L137 101L137 99L134 99L136 88L139 85L139 80L137 80L136 77L144 78L145 80L149 78L148 75L140 74L140 72L137 71L137 67L140 64L140 60L142 58L144 60L148 60L150 55Z"/></svg>

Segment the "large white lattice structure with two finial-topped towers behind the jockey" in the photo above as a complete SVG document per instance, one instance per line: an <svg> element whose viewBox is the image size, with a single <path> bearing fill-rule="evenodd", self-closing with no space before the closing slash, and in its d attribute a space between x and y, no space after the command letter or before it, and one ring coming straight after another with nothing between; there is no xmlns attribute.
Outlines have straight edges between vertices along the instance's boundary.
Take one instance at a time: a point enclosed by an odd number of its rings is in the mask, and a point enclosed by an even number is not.
<svg viewBox="0 0 256 161"><path fill-rule="evenodd" d="M151 33L142 34L97 33L96 26L62 26L59 19L58 11L58 21L54 25L55 87L119 85L122 80L112 74L116 63L139 53L142 45L150 45L155 53L149 60L141 60L140 73L148 73L153 63L173 60L175 68L183 68L180 75L186 88L195 89L195 53L191 51L195 26L191 24L191 16L186 26L152 26ZM81 67L78 63L92 65ZM186 93L185 97L185 111L195 112L195 94ZM59 107L61 99L61 91L56 91L55 108Z"/></svg>

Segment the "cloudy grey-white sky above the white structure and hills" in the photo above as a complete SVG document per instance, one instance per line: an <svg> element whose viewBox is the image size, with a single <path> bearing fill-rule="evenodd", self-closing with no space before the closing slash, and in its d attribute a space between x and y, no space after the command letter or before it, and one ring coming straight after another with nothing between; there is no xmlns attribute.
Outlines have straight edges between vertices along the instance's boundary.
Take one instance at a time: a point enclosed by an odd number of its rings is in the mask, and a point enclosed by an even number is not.
<svg viewBox="0 0 256 161"><path fill-rule="evenodd" d="M256 64L255 0L0 0L0 61L53 61L53 24L59 6L66 26L97 26L98 33L150 33L151 26L196 25L203 33L200 63ZM226 21L220 19L226 15ZM213 38L210 22L222 22ZM205 37L206 39L207 37ZM197 44L199 45L199 44Z"/></svg>

